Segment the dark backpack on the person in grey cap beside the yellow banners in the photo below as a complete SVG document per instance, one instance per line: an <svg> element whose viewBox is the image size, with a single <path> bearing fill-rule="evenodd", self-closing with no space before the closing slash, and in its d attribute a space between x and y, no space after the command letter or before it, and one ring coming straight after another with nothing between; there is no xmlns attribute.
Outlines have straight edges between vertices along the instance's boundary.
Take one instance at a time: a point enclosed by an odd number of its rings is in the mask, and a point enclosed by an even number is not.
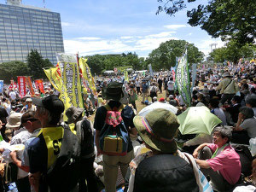
<svg viewBox="0 0 256 192"><path fill-rule="evenodd" d="M94 137L91 129L90 120L85 117L76 123L77 137L81 146L81 158L88 159L95 155Z"/></svg>

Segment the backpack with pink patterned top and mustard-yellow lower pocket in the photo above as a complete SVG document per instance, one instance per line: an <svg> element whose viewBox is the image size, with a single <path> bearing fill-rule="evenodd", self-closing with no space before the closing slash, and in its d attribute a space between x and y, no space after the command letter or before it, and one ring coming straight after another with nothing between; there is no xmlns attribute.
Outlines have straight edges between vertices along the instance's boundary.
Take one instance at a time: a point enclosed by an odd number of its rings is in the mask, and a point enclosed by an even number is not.
<svg viewBox="0 0 256 192"><path fill-rule="evenodd" d="M129 143L129 133L121 116L124 105L113 109L108 105L104 107L107 108L107 114L100 132L101 153L124 156L127 154Z"/></svg>

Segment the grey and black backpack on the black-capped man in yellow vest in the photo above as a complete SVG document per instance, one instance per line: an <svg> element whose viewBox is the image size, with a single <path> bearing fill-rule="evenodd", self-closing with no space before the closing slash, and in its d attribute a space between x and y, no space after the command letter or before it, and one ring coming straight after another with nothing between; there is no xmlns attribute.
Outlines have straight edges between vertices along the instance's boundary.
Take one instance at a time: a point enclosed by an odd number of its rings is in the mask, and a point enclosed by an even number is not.
<svg viewBox="0 0 256 192"><path fill-rule="evenodd" d="M51 192L72 191L79 183L79 138L73 134L68 125L63 125L63 128L64 135L60 153L44 176Z"/></svg>

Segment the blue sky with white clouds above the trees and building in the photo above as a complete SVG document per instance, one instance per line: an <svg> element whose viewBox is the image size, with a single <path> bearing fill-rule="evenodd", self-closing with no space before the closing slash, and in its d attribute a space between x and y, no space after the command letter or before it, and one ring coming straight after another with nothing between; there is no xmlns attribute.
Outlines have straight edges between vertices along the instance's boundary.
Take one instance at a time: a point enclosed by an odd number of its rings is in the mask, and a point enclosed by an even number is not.
<svg viewBox="0 0 256 192"><path fill-rule="evenodd" d="M23 0L22 3L41 8L45 4L46 9L61 14L64 49L68 54L136 52L146 57L170 39L195 44L205 55L211 50L210 44L224 45L200 27L189 26L186 10L175 17L165 13L155 15L160 5L157 0ZM195 4L189 3L189 8Z"/></svg>

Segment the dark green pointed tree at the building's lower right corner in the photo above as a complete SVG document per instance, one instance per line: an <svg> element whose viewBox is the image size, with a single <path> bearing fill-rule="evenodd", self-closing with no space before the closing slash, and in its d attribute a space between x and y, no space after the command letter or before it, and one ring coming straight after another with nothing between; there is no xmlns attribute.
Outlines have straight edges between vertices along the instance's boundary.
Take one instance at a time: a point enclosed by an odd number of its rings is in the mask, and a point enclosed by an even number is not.
<svg viewBox="0 0 256 192"><path fill-rule="evenodd" d="M43 58L37 49L31 49L26 58L29 73L33 79L46 79L43 68L53 67L49 59Z"/></svg>

